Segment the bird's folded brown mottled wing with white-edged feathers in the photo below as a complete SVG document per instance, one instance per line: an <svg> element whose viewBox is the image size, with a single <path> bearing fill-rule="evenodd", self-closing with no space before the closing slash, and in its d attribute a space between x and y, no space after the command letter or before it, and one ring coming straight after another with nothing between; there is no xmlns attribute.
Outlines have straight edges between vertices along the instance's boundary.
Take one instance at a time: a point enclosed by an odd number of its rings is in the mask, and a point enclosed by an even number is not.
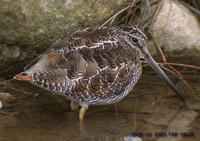
<svg viewBox="0 0 200 141"><path fill-rule="evenodd" d="M29 71L45 72L37 77L41 80L58 83L67 80L73 93L89 89L100 95L108 90L109 84L117 82L116 88L123 86L136 59L134 51L127 48L114 30L88 28L55 43Z"/></svg>

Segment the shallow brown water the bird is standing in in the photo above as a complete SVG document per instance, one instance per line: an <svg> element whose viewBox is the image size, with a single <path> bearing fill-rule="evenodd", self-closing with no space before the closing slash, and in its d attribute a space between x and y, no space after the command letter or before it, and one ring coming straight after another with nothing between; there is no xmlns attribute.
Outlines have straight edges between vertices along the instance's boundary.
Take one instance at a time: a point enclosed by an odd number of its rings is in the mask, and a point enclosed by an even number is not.
<svg viewBox="0 0 200 141"><path fill-rule="evenodd" d="M187 96L190 109L156 75L142 75L121 102L91 106L82 124L61 96L25 82L0 85L0 141L196 141L200 138L200 77L185 77L196 95L181 81L174 82Z"/></svg>

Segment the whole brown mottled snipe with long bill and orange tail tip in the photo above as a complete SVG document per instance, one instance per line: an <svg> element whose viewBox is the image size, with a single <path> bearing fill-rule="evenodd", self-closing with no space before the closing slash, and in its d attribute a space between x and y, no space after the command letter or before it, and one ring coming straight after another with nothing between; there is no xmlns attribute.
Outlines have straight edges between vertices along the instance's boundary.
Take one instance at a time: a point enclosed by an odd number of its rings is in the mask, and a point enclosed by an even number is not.
<svg viewBox="0 0 200 141"><path fill-rule="evenodd" d="M54 43L15 78L78 103L82 120L89 105L118 102L132 90L142 73L141 58L184 100L151 57L145 34L135 26L74 32Z"/></svg>

